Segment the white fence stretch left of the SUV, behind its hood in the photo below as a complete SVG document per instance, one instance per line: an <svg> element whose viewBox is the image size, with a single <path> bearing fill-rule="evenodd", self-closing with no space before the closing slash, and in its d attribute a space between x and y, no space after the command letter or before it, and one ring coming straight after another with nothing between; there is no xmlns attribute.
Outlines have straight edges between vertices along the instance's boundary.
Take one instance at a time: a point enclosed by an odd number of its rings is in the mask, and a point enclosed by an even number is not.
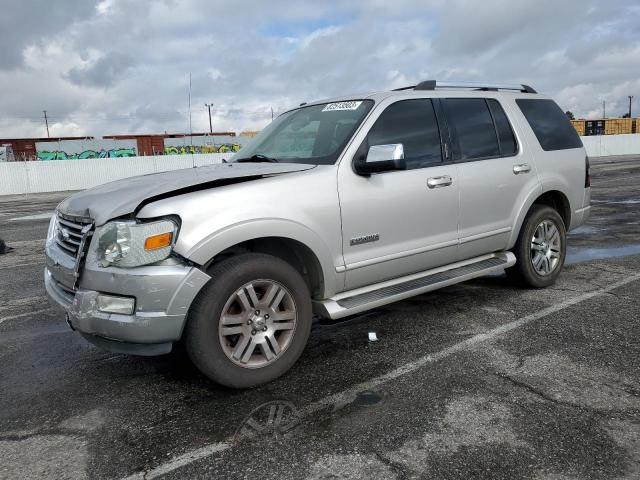
<svg viewBox="0 0 640 480"><path fill-rule="evenodd" d="M84 190L121 178L222 162L231 153L0 163L0 195Z"/></svg>

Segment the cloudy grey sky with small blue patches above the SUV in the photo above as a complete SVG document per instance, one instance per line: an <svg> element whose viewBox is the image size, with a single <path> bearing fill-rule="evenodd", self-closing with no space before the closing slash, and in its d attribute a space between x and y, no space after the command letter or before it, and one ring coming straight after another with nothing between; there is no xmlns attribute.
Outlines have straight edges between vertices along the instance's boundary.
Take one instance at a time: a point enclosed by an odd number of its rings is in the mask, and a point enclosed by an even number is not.
<svg viewBox="0 0 640 480"><path fill-rule="evenodd" d="M190 72L193 131L431 78L640 113L637 0L4 0L0 45L0 138L188 131Z"/></svg>

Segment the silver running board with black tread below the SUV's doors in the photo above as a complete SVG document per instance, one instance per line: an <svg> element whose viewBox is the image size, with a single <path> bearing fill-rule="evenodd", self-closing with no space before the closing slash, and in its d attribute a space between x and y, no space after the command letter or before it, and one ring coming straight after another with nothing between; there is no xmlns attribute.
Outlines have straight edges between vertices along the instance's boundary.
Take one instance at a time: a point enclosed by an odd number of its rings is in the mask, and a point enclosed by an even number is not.
<svg viewBox="0 0 640 480"><path fill-rule="evenodd" d="M335 320L504 270L515 263L516 257L511 252L483 255L426 272L342 292L327 300L314 302L314 310L320 316Z"/></svg>

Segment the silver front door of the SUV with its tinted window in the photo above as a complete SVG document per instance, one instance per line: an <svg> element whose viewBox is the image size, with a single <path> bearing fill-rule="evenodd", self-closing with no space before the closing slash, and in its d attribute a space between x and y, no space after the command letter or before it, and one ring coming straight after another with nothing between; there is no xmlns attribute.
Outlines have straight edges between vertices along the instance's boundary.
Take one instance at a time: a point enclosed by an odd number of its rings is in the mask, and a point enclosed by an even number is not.
<svg viewBox="0 0 640 480"><path fill-rule="evenodd" d="M443 160L432 101L400 100L382 108L356 155L401 143L407 169L360 176L351 158L342 161L346 289L451 263L457 253L459 180L456 165Z"/></svg>

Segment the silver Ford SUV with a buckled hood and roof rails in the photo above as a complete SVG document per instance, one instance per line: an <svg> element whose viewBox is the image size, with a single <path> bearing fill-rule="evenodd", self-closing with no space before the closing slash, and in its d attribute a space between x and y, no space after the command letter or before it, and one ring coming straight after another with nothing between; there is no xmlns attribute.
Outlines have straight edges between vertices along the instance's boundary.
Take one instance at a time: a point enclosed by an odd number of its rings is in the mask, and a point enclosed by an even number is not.
<svg viewBox="0 0 640 480"><path fill-rule="evenodd" d="M425 81L280 115L229 162L109 183L51 220L45 284L116 352L182 341L231 387L338 319L490 272L534 287L589 214L589 163L526 85Z"/></svg>

